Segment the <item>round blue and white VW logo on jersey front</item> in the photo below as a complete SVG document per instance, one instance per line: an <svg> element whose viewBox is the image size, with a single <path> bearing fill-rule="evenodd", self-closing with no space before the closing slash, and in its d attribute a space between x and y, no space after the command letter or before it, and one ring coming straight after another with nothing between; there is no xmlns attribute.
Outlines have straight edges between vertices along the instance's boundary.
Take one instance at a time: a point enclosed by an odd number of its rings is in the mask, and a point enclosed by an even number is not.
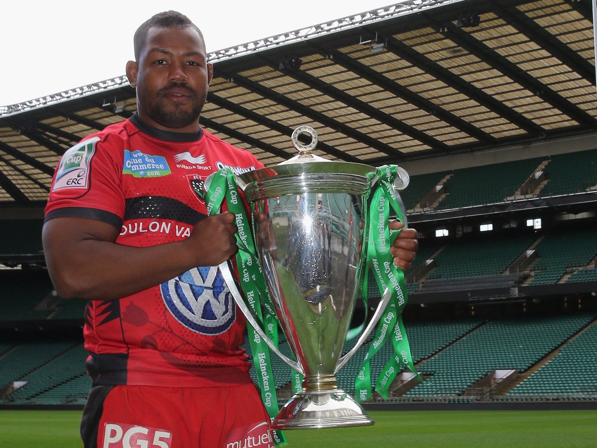
<svg viewBox="0 0 597 448"><path fill-rule="evenodd" d="M162 299L172 315L193 332L220 335L235 320L235 305L217 266L184 272L160 285Z"/></svg>

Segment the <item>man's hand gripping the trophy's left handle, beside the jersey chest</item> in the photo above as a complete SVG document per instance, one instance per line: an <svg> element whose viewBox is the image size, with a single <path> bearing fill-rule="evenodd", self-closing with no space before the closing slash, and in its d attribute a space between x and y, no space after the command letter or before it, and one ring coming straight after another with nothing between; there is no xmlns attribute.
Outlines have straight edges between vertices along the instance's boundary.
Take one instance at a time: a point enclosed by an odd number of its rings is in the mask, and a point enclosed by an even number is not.
<svg viewBox="0 0 597 448"><path fill-rule="evenodd" d="M234 213L225 211L196 223L183 243L195 262L194 266L217 266L238 250L235 233Z"/></svg>

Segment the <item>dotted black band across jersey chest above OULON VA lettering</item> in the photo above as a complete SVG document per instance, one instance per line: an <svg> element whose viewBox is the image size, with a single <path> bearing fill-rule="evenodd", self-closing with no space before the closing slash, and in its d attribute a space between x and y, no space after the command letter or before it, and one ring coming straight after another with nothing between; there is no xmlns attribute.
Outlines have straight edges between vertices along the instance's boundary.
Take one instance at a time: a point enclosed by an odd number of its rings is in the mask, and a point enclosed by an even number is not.
<svg viewBox="0 0 597 448"><path fill-rule="evenodd" d="M140 196L124 200L124 220L161 218L194 226L207 217L189 205L164 196Z"/></svg>

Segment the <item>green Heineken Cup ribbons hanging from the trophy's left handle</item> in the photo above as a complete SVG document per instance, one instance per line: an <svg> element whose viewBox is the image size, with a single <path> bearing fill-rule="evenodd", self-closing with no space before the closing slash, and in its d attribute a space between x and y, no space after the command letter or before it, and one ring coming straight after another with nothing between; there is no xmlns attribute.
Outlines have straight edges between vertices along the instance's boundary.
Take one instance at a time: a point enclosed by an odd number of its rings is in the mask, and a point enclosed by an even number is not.
<svg viewBox="0 0 597 448"><path fill-rule="evenodd" d="M238 229L235 234L236 246L239 248L236 253L236 266L241 289L257 323L263 326L267 337L272 340L274 345L278 346L278 320L273 309L272 298L266 287L263 271L261 271L241 194L236 187L235 175L229 168L222 168L214 175L210 185L205 185L205 188L207 189L205 206L210 216L218 213L224 198L226 198L228 211L235 216L235 225ZM251 211L254 212L254 210ZM263 304L263 312L261 304ZM257 381L261 389L261 400L270 421L273 421L278 415L279 408L269 348L249 323L247 323L247 332L257 371ZM283 431L274 430L272 433L276 446L287 444Z"/></svg>

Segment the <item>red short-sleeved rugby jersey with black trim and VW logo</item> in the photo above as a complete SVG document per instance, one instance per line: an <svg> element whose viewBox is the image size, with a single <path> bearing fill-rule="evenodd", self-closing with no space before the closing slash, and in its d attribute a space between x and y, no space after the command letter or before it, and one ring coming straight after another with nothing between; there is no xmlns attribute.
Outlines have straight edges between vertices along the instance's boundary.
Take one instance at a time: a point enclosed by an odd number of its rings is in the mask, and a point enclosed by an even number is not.
<svg viewBox="0 0 597 448"><path fill-rule="evenodd" d="M263 167L204 130L171 133L134 115L64 154L45 220L98 219L118 228L116 243L127 246L180 241L207 216L196 190L224 165L236 174ZM94 384L247 383L247 355L238 348L244 327L219 269L198 267L132 296L90 301L87 370Z"/></svg>

